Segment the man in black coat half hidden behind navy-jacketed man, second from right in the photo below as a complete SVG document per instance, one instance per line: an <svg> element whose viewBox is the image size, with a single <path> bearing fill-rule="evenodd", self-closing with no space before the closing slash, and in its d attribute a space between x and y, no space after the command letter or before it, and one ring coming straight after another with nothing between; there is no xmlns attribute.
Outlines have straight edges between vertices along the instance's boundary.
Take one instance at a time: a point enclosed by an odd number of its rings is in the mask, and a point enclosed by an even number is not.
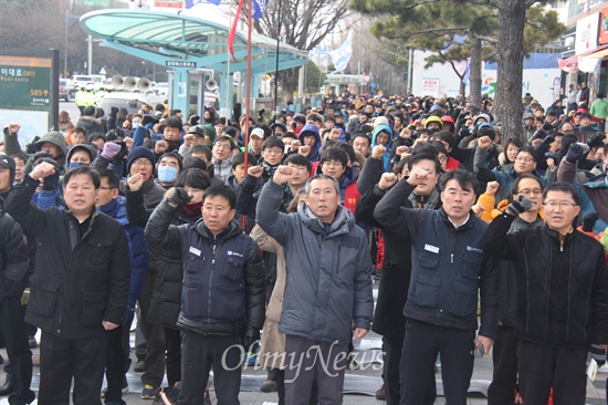
<svg viewBox="0 0 608 405"><path fill-rule="evenodd" d="M370 178L363 180L378 183L384 170L381 168L380 170L371 170L367 162L365 166L361 176L365 175ZM441 199L436 186L441 165L437 156L421 153L401 160L399 163L400 176L407 176L412 167L426 168L432 172L433 175L430 176L427 184L419 185L410 195L410 198L402 201L402 206L407 208L438 209L441 207ZM403 336L406 335L406 318L402 312L406 305L411 274L411 246L401 235L382 227L374 219L374 208L376 208L376 204L378 204L386 191L381 184L377 184L370 188L361 197L359 204L357 204L355 216L359 221L378 228L381 231L385 246L378 301L371 330L382 335L382 378L385 382L386 402L391 405L399 404L401 397L399 362L401 359L401 347L403 346ZM432 388L429 396L434 398L434 386Z"/></svg>

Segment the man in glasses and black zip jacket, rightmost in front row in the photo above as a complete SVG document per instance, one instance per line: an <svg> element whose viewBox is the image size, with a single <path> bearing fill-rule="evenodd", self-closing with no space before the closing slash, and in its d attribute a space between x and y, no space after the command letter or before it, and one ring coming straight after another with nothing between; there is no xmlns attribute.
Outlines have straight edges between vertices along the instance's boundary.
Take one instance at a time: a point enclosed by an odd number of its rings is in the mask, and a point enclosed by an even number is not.
<svg viewBox="0 0 608 405"><path fill-rule="evenodd" d="M577 231L578 193L554 183L543 194L546 224L507 233L534 202L518 195L483 236L482 248L514 262L520 392L526 404L585 404L589 354L606 362L608 269L604 248Z"/></svg>

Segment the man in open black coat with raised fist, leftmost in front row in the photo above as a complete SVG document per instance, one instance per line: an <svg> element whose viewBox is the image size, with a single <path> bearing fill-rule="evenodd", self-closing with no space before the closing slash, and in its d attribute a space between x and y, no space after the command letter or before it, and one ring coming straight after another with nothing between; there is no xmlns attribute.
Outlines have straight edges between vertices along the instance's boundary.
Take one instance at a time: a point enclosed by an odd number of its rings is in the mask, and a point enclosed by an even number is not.
<svg viewBox="0 0 608 405"><path fill-rule="evenodd" d="M40 181L55 167L38 165L14 188L7 211L36 237L25 321L42 330L40 404L101 405L106 333L126 312L130 263L120 224L95 209L99 175L88 166L65 173L66 209L30 205Z"/></svg>

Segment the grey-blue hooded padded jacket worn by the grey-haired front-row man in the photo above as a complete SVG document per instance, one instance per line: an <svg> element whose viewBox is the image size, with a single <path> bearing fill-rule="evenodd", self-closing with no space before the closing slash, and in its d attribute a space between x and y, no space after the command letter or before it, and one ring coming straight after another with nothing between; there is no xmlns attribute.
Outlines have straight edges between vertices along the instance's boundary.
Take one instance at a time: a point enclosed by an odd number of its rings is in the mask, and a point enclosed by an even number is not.
<svg viewBox="0 0 608 405"><path fill-rule="evenodd" d="M369 330L374 311L367 235L337 207L327 228L303 205L282 214L284 187L269 181L258 224L285 249L287 279L279 331L313 341L348 344L352 326Z"/></svg>

